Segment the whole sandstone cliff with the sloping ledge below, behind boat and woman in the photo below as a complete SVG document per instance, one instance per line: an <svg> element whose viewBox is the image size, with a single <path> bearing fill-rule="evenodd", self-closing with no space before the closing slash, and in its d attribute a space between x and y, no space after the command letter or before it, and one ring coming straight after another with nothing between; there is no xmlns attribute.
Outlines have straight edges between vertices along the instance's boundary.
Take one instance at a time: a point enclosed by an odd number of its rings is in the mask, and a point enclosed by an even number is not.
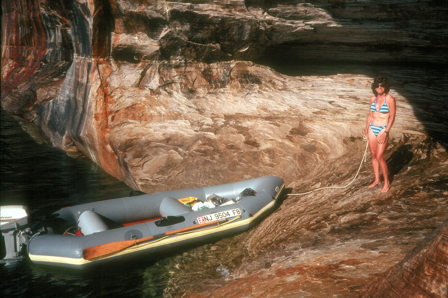
<svg viewBox="0 0 448 298"><path fill-rule="evenodd" d="M294 193L340 185L365 149L371 80L393 78L391 191L366 189L364 166L352 188L286 198L199 296L356 296L446 218L442 3L14 0L2 12L2 107L145 192L263 175ZM313 63L364 67L304 75Z"/></svg>

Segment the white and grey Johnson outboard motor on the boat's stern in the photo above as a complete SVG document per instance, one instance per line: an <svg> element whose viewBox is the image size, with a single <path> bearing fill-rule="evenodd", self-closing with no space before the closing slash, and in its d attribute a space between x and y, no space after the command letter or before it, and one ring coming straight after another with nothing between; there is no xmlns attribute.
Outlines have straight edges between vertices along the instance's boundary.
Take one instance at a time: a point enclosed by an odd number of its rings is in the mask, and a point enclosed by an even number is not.
<svg viewBox="0 0 448 298"><path fill-rule="evenodd" d="M30 239L28 208L20 205L0 206L0 217L2 244L6 251L4 259L15 259L21 256L22 247Z"/></svg>

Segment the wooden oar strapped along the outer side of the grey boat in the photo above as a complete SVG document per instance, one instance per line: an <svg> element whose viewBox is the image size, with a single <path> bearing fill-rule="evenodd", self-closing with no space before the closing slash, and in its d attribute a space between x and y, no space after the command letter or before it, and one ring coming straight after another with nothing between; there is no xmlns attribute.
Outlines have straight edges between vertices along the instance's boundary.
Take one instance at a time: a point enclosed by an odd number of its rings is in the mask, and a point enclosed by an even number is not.
<svg viewBox="0 0 448 298"><path fill-rule="evenodd" d="M204 222L195 226L190 226L190 227L185 227L179 230L174 230L174 231L168 231L166 233L162 233L162 234L158 234L158 235L154 235L154 236L149 236L149 237L145 237L145 238L141 238L141 239L132 239L132 240L125 240L125 241L117 241L117 242L111 242L111 243L105 243L105 244L100 244L97 246L93 246L91 248L85 248L82 250L82 257L85 260L90 260L90 259L94 259L96 257L99 256L105 256L114 252L119 252L125 248L129 248L133 245L139 244L139 243L143 243L152 239L158 239L158 238L162 238L164 236L168 236L168 235L173 235L173 234L177 234L177 233L181 233L181 232L185 232L185 231L190 231L190 230L194 230L200 227L207 227L207 226L211 226L215 223L223 223L226 222L227 219L223 218L223 219L219 219L219 220L214 220L212 222Z"/></svg>

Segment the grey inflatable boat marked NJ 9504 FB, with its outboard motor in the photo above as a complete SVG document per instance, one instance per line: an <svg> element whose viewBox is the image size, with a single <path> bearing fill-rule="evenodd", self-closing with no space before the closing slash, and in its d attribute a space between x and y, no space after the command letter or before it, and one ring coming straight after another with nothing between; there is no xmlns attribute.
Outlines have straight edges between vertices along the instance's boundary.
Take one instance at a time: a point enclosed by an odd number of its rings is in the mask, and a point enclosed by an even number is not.
<svg viewBox="0 0 448 298"><path fill-rule="evenodd" d="M24 208L6 206L2 220L9 209L22 215L0 228L7 257L23 247L33 263L82 269L246 231L275 208L283 189L281 178L265 176L116 198L63 208L37 227L29 227Z"/></svg>

